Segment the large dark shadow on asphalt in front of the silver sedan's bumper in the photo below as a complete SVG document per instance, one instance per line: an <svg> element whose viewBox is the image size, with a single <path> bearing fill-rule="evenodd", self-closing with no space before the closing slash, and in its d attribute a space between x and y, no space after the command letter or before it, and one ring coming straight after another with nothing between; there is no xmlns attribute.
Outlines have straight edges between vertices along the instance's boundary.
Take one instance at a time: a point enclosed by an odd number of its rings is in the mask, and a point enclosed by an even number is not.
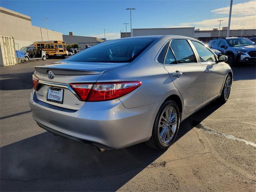
<svg viewBox="0 0 256 192"><path fill-rule="evenodd" d="M102 153L49 132L0 148L1 191L116 191L165 151L144 143Z"/></svg>

